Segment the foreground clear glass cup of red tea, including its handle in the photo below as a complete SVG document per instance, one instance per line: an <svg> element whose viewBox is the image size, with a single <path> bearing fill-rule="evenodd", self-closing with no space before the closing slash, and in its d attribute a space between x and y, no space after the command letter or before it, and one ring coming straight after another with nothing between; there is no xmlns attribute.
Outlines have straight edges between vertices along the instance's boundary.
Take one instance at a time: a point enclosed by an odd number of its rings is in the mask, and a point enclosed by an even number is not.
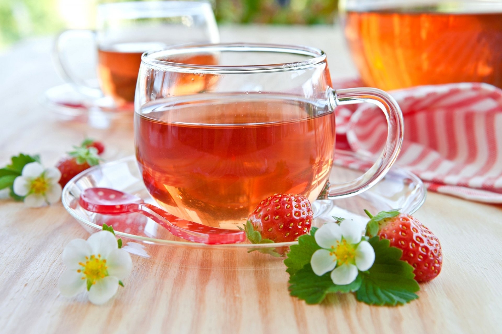
<svg viewBox="0 0 502 334"><path fill-rule="evenodd" d="M196 58L215 65L180 62ZM329 184L333 109L361 102L378 105L387 117L384 151L362 176ZM229 228L274 193L312 202L358 194L387 173L402 140L395 100L373 88L334 90L326 55L315 48L217 44L142 56L138 165L152 197L188 220Z"/></svg>

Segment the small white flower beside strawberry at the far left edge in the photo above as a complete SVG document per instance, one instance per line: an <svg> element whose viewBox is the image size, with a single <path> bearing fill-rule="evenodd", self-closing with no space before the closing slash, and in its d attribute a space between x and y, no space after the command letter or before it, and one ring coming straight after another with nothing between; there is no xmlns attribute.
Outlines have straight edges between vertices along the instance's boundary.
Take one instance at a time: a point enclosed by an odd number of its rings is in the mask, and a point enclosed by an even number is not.
<svg viewBox="0 0 502 334"><path fill-rule="evenodd" d="M53 204L61 199L59 169L44 168L39 162L30 162L23 167L21 175L14 180L13 190L31 207Z"/></svg>

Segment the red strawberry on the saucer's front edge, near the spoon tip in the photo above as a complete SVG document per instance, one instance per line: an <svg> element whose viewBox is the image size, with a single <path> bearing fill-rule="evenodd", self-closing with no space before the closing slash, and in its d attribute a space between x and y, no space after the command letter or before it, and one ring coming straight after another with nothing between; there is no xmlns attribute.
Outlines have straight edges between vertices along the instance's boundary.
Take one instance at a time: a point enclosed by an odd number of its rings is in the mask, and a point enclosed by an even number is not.
<svg viewBox="0 0 502 334"><path fill-rule="evenodd" d="M261 201L248 219L264 239L296 241L310 231L312 208L305 196L274 194Z"/></svg>

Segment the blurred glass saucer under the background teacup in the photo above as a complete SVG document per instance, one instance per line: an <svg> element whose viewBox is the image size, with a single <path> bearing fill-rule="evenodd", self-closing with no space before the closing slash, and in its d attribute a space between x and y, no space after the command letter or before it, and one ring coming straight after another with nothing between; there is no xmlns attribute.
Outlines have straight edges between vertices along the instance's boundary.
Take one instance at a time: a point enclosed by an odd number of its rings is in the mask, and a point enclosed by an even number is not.
<svg viewBox="0 0 502 334"><path fill-rule="evenodd" d="M116 123L133 122L133 103L117 107L110 98L82 94L71 84L46 90L42 104L59 121L87 123L97 129L108 129Z"/></svg>

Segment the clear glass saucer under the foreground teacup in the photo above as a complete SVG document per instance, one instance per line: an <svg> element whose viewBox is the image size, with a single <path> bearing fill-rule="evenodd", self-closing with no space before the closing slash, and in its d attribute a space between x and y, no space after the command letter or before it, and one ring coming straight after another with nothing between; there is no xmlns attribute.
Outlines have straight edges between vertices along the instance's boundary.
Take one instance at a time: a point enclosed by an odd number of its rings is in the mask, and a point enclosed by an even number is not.
<svg viewBox="0 0 502 334"><path fill-rule="evenodd" d="M337 151L336 163L347 161L370 163L370 160L352 152ZM347 160L349 159L349 160ZM330 182L353 179L362 172L348 167L333 166ZM73 178L63 189L62 202L65 209L89 233L101 230L103 223L113 226L117 237L122 238L123 248L133 254L156 261L166 261L180 266L205 268L271 268L283 266L284 258L253 250L270 249L271 244L224 244L206 245L188 242L170 234L166 229L139 214L101 215L82 209L78 203L80 193L90 187L114 188L134 194L155 204L148 194L139 173L134 156L103 163L87 169ZM361 231L368 218L363 209L371 212L400 208L402 212L415 212L425 200L426 190L422 181L414 174L393 167L377 185L366 192L336 200L316 201L313 226L333 221L332 216L353 219L360 224ZM275 243L278 250L297 242Z"/></svg>

